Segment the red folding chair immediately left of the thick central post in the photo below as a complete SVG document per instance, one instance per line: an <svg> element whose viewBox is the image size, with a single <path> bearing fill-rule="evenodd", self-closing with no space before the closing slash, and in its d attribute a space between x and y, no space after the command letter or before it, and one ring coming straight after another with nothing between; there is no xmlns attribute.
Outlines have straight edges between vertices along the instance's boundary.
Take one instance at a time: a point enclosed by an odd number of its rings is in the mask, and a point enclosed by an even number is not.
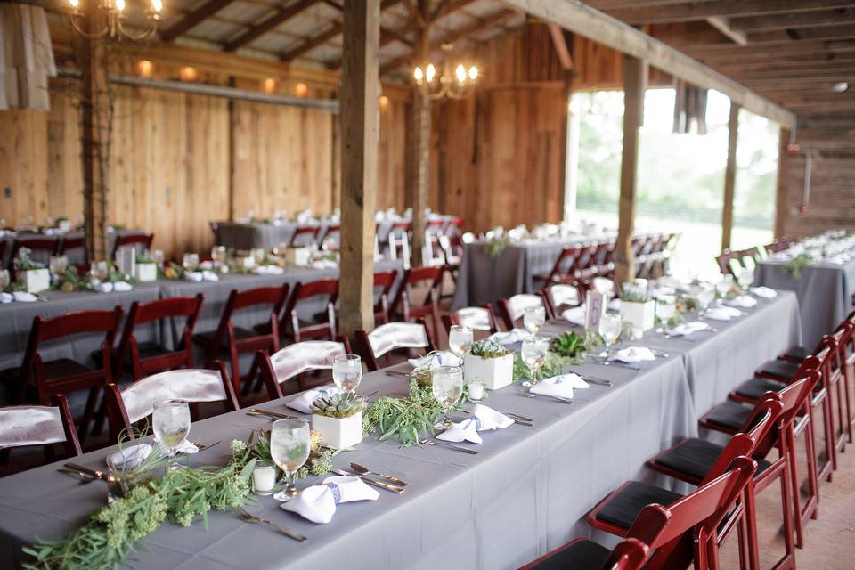
<svg viewBox="0 0 855 570"><path fill-rule="evenodd" d="M301 319L298 305L306 299L323 297L324 309L313 315L312 320ZM300 342L308 338L336 338L336 301L338 301L338 279L323 279L304 283L297 282L294 292L285 305L281 330L291 342Z"/></svg>

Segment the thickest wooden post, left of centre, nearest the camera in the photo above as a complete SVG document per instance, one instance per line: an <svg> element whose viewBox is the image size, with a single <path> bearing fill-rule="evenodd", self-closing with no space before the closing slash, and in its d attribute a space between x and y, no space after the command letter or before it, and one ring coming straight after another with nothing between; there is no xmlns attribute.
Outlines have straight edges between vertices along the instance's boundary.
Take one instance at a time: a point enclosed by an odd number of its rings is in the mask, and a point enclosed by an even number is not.
<svg viewBox="0 0 855 570"><path fill-rule="evenodd" d="M341 333L374 328L380 0L346 2L341 72Z"/></svg>

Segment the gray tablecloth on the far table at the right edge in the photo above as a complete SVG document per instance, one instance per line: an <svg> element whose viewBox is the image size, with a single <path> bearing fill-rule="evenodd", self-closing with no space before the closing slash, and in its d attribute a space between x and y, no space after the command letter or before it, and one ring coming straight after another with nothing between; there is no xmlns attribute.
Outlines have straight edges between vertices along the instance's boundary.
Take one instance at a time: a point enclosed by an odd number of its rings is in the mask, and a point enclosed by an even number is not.
<svg viewBox="0 0 855 570"><path fill-rule="evenodd" d="M795 291L802 313L802 340L816 346L819 339L843 322L852 310L855 293L855 262L821 263L802 270L799 279L787 271L786 262L764 261L757 265L754 284Z"/></svg>

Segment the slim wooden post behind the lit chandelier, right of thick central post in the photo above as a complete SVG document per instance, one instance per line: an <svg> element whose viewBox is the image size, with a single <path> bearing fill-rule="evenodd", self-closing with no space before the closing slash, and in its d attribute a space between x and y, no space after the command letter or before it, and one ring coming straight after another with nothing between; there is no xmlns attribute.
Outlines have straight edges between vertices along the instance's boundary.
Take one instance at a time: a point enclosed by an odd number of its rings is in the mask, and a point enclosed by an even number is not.
<svg viewBox="0 0 855 570"><path fill-rule="evenodd" d="M419 29L416 32L416 65L425 69L430 59L430 28L428 0L419 0ZM425 208L428 206L428 151L430 147L430 98L418 85L412 95L412 162L410 168L408 205L412 208L412 265L423 263L425 244Z"/></svg>

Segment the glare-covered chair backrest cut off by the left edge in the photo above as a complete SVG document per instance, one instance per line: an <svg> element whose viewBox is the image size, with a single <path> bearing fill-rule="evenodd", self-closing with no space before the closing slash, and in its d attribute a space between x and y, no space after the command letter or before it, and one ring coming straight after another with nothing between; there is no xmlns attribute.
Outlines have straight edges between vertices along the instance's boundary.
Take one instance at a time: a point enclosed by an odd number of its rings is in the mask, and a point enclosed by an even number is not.
<svg viewBox="0 0 855 570"><path fill-rule="evenodd" d="M64 395L53 395L51 406L0 408L0 449L28 445L64 444L66 455L80 455L80 442Z"/></svg>

